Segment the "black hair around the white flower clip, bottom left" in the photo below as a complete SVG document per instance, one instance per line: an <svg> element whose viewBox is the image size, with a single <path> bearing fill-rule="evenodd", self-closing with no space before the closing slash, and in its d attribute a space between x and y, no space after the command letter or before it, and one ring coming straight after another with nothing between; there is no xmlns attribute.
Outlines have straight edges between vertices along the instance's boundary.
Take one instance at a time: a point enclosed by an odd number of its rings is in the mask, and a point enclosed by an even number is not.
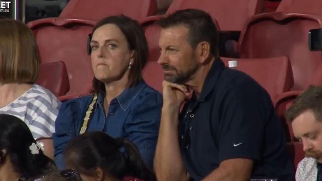
<svg viewBox="0 0 322 181"><path fill-rule="evenodd" d="M28 126L19 118L0 114L0 165L10 157L14 170L22 177L34 178L43 175L54 162L42 150L32 154L29 146L36 143Z"/></svg>

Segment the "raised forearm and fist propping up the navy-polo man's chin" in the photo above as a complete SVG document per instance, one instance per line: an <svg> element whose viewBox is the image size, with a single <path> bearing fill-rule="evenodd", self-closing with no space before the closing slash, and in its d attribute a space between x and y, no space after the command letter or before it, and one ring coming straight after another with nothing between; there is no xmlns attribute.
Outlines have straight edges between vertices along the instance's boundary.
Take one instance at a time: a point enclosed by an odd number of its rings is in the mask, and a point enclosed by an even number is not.
<svg viewBox="0 0 322 181"><path fill-rule="evenodd" d="M158 181L188 181L178 137L180 105L189 91L184 86L163 81L163 107L154 160Z"/></svg>

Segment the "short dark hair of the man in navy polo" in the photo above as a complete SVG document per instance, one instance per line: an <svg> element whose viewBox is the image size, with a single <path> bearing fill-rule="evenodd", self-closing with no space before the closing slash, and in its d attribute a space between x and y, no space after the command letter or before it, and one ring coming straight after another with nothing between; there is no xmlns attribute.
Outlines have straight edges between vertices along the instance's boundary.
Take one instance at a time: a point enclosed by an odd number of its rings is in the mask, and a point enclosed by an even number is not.
<svg viewBox="0 0 322 181"><path fill-rule="evenodd" d="M195 48L200 42L210 44L211 53L219 56L218 31L212 17L199 9L178 10L169 16L162 18L158 24L163 28L183 25L189 29L188 42Z"/></svg>

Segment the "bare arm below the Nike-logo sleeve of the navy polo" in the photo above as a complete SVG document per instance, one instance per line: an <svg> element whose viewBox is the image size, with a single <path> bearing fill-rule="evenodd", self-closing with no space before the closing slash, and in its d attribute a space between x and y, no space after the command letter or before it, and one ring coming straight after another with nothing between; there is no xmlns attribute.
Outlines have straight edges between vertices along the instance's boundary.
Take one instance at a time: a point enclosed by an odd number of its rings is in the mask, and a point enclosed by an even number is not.
<svg viewBox="0 0 322 181"><path fill-rule="evenodd" d="M248 181L252 170L253 161L250 159L228 159L202 181Z"/></svg>

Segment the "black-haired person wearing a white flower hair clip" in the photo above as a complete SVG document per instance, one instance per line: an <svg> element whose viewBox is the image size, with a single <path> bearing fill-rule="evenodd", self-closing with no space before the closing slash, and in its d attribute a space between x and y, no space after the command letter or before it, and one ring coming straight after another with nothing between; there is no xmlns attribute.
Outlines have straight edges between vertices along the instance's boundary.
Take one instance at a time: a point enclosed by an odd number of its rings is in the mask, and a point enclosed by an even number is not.
<svg viewBox="0 0 322 181"><path fill-rule="evenodd" d="M43 149L22 120L0 114L0 181L42 178L54 169L54 161Z"/></svg>

